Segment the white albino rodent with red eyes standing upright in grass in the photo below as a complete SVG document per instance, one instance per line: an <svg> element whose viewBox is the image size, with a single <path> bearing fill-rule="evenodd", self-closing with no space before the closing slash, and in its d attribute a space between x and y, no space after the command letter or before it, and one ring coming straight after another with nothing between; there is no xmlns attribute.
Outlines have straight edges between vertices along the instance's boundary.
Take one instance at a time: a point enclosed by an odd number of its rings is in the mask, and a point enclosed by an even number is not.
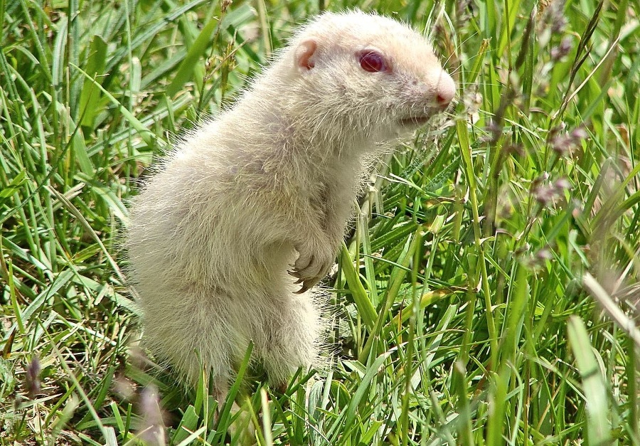
<svg viewBox="0 0 640 446"><path fill-rule="evenodd" d="M325 13L230 110L188 134L131 207L144 338L223 397L249 341L277 385L319 358L319 292L375 144L455 94L430 43L398 21ZM292 277L294 276L294 277Z"/></svg>

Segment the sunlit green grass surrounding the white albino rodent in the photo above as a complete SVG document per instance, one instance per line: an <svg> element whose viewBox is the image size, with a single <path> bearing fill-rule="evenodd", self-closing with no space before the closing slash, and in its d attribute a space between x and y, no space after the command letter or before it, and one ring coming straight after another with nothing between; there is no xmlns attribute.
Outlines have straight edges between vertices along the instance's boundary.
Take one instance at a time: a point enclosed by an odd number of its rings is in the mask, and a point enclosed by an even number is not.
<svg viewBox="0 0 640 446"><path fill-rule="evenodd" d="M134 346L127 196L318 3L0 0L0 445L225 441ZM546 3L329 4L432 31L459 102L380 164L331 370L240 393L261 445L640 445L640 6Z"/></svg>

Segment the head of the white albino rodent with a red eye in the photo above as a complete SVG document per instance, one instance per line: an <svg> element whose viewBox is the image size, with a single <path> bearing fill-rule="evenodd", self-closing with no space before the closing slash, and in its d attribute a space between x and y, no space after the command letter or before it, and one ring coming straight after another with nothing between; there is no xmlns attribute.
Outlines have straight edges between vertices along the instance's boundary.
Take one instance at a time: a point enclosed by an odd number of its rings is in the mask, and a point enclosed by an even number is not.
<svg viewBox="0 0 640 446"><path fill-rule="evenodd" d="M284 60L299 96L297 113L327 137L342 130L393 139L444 111L456 90L424 36L361 11L311 21Z"/></svg>

